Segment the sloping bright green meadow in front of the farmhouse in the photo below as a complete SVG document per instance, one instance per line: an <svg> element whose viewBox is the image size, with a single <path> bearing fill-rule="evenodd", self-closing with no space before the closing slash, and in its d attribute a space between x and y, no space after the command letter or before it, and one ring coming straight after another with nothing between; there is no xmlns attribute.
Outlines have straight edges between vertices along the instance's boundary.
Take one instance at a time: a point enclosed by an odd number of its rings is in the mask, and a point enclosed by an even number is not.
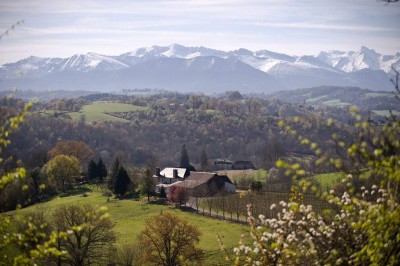
<svg viewBox="0 0 400 266"><path fill-rule="evenodd" d="M86 193L87 197L83 197ZM149 217L161 212L171 212L180 218L188 220L196 225L201 233L199 246L206 252L205 265L226 265L224 256L220 251L217 235L220 235L229 250L238 245L241 234L245 233L247 226L221 221L193 212L186 212L169 205L148 204L147 202L132 199L117 200L102 196L100 191L92 189L75 190L74 193L54 198L51 201L37 204L35 206L19 210L20 214L35 210L35 208L57 209L65 204L91 204L93 206L105 206L115 222L117 244L134 243L136 236L143 230Z"/></svg>

